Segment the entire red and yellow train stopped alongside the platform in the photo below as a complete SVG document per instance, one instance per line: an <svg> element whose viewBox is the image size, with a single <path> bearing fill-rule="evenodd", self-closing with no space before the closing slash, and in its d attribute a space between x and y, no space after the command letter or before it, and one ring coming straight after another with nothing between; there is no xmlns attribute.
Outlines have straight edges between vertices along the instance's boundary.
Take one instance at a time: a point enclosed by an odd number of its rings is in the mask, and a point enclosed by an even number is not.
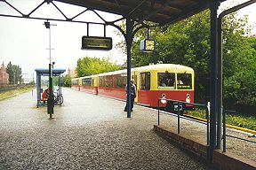
<svg viewBox="0 0 256 170"><path fill-rule="evenodd" d="M163 96L167 99L194 103L195 73L188 66L173 64L141 66L132 68L131 73L137 87L135 98L137 104L157 107L158 98ZM127 70L120 70L73 79L72 88L74 86L74 89L81 91L125 100L126 81ZM168 103L160 104L160 107L167 108Z"/></svg>

